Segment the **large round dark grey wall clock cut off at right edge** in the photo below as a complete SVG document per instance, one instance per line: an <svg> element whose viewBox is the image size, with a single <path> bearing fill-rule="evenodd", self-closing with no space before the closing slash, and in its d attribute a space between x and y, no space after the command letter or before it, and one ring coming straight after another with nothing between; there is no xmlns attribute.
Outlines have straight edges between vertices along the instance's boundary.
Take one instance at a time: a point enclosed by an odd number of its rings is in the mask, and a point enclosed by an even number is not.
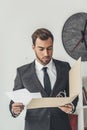
<svg viewBox="0 0 87 130"><path fill-rule="evenodd" d="M76 13L66 20L62 42L72 58L81 57L82 61L87 61L87 13Z"/></svg>

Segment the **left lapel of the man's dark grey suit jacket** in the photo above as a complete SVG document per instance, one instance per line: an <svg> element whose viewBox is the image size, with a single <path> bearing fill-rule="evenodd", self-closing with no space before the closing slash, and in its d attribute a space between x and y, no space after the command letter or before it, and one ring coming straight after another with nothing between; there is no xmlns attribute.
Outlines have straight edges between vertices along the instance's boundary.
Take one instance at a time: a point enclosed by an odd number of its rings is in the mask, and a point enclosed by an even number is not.
<svg viewBox="0 0 87 130"><path fill-rule="evenodd" d="M44 91L44 88L42 84L40 83L36 71L35 71L35 62L31 64L31 67L27 70L27 75L25 76L25 83L27 83L27 89L30 92L40 92L41 95L47 96L46 92Z"/></svg>

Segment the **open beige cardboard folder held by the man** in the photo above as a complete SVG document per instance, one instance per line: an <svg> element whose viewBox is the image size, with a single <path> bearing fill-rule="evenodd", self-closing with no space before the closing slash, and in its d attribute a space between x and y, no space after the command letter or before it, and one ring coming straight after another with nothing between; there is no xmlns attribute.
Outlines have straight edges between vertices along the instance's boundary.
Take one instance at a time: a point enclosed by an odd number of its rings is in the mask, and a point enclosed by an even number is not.
<svg viewBox="0 0 87 130"><path fill-rule="evenodd" d="M32 98L27 109L58 107L71 103L78 95L81 86L81 58L72 66L69 71L69 95L70 97L48 97Z"/></svg>

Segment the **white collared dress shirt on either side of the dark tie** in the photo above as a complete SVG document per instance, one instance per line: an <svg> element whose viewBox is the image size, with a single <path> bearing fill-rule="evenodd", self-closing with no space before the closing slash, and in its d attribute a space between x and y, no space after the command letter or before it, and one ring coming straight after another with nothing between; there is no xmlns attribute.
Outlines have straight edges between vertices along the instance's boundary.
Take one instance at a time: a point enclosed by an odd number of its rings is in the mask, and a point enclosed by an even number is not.
<svg viewBox="0 0 87 130"><path fill-rule="evenodd" d="M40 80L42 86L44 87L44 82L43 82L44 73L42 70L43 67L47 67L47 73L50 78L51 90L52 90L54 87L55 81L56 81L56 76L57 76L55 64L54 64L53 60L51 60L46 66L43 66L37 60L35 60L36 74L37 74L37 77Z"/></svg>

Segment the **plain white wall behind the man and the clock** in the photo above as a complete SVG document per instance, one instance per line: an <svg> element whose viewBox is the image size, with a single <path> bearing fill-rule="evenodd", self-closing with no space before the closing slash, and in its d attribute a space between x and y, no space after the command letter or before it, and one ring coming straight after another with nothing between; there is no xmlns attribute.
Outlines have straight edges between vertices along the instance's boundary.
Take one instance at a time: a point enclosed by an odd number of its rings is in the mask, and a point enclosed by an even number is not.
<svg viewBox="0 0 87 130"><path fill-rule="evenodd" d="M87 0L0 0L0 130L23 130L25 111L13 118L5 92L13 89L16 68L34 59L31 34L40 27L54 35L54 58L75 60L64 50L64 22L77 12L87 12ZM82 63L82 75L87 62Z"/></svg>

